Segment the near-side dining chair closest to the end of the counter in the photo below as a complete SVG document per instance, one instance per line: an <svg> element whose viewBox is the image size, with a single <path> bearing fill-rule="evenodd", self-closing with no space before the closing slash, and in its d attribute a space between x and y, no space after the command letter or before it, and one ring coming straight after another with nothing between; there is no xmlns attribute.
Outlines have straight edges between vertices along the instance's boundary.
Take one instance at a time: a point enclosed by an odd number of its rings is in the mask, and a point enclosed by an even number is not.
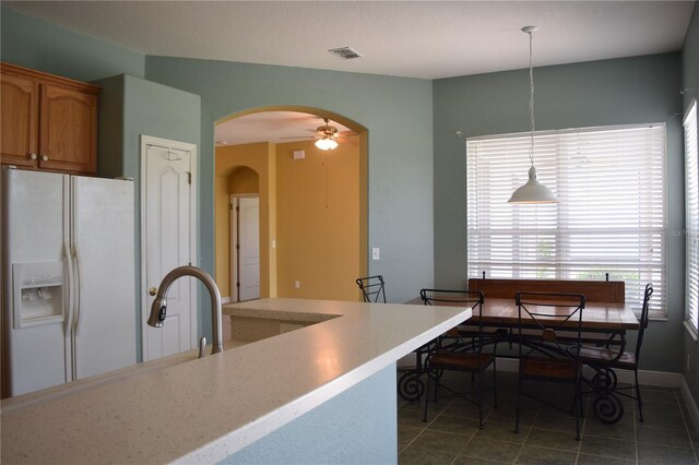
<svg viewBox="0 0 699 465"><path fill-rule="evenodd" d="M484 297L481 291L472 290L449 290L449 289L422 289L420 298L425 305L429 306L463 306L471 307L473 315L477 317L477 327L482 329L481 322L483 315ZM496 358L497 339L494 343L491 353L484 353L484 337L478 334L477 337L471 337L471 341L461 338L458 329L447 332L437 339L436 350L430 351L427 358L427 385L425 390L425 410L423 421L427 421L427 407L429 404L429 388L434 381L435 401L437 401L437 390L439 386L454 395L459 395L466 401L477 405L478 407L478 425L483 428L483 377L485 371L493 366L493 397L494 407L497 408L497 374ZM452 339L448 347L443 347L445 339ZM477 375L476 400L471 398L473 392L461 392L455 386L450 386L441 380L441 373L448 371L461 371ZM438 374L439 373L439 374Z"/></svg>

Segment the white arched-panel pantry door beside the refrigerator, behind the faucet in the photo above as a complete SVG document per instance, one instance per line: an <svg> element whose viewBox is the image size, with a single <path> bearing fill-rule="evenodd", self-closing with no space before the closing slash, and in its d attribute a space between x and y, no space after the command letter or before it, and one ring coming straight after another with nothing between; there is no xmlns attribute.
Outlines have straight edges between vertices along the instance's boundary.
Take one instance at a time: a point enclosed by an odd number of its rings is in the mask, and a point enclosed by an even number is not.
<svg viewBox="0 0 699 465"><path fill-rule="evenodd" d="M143 360L153 360L196 347L196 283L177 279L167 293L167 317L163 327L146 321L154 294L173 269L194 264L193 241L196 146L143 136L141 143L142 189Z"/></svg>

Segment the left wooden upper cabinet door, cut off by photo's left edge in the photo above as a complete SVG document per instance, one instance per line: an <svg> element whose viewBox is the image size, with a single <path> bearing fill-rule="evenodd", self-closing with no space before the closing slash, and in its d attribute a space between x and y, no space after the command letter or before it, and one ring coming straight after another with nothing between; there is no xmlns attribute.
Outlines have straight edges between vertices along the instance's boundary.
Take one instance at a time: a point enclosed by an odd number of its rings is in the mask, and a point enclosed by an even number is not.
<svg viewBox="0 0 699 465"><path fill-rule="evenodd" d="M31 78L3 73L0 85L2 164L36 167L38 84Z"/></svg>

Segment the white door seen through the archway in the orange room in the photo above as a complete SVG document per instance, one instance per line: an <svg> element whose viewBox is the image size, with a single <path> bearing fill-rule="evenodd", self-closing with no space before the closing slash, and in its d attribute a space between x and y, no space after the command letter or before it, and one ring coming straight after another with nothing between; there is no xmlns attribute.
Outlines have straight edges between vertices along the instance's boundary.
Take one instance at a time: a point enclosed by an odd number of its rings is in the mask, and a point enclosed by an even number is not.
<svg viewBox="0 0 699 465"><path fill-rule="evenodd" d="M234 299L260 298L260 198L235 196L233 212ZM237 297L236 297L237 296Z"/></svg>

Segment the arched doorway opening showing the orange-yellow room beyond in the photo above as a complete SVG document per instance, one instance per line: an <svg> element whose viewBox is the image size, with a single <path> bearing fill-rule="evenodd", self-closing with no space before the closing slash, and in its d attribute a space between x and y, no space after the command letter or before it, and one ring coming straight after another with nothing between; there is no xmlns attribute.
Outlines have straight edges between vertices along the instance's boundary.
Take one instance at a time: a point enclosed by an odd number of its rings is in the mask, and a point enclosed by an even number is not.
<svg viewBox="0 0 699 465"><path fill-rule="evenodd" d="M305 118L303 131L298 124L292 129L298 136L273 140L270 130L252 136L244 118L256 115L262 119L283 111L289 118ZM315 144L315 128L324 124L323 118L347 134L333 151L321 151ZM224 124L239 124L250 138L244 143L224 143L218 136ZM215 133L215 277L224 300L235 299L229 283L235 265L229 253L234 233L229 195L235 191L252 194L254 188L259 195L260 297L358 300L354 279L366 274L368 255L366 128L317 108L265 107L217 121Z"/></svg>

